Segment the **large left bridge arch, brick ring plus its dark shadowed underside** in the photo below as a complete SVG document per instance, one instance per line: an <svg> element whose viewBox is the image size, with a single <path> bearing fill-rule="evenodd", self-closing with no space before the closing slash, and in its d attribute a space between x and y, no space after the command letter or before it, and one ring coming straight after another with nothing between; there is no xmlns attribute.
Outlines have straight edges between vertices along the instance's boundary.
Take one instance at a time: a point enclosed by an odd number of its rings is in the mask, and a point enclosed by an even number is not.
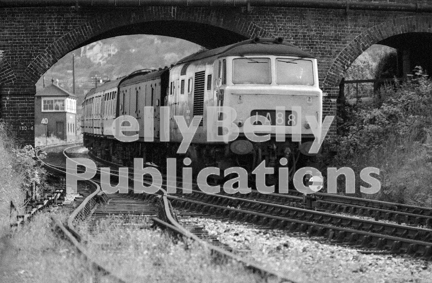
<svg viewBox="0 0 432 283"><path fill-rule="evenodd" d="M253 36L276 37L254 22L223 10L157 7L145 11L125 11L97 17L68 31L32 60L25 70L31 83L68 52L109 37L130 34L166 35L215 48Z"/></svg>

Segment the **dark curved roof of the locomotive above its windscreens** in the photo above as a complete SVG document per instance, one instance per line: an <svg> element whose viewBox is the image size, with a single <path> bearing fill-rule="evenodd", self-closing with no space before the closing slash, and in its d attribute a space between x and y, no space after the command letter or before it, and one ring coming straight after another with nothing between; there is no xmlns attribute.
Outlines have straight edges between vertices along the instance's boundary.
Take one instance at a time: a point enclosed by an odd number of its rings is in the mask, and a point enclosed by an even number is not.
<svg viewBox="0 0 432 283"><path fill-rule="evenodd" d="M299 57L315 58L314 55L305 52L297 46L285 42L279 37L278 39L251 39L239 43L207 50L200 53L189 55L177 64L182 64L190 61L201 60L211 56L242 56L242 55L293 55Z"/></svg>

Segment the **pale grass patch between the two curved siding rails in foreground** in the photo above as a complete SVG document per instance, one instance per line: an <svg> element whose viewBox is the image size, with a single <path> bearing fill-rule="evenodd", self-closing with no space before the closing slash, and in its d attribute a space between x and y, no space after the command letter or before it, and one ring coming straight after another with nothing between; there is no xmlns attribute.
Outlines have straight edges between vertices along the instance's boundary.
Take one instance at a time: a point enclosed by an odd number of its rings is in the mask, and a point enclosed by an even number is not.
<svg viewBox="0 0 432 283"><path fill-rule="evenodd" d="M81 224L80 234L91 254L130 281L255 281L254 275L236 262L218 264L210 251L197 243L173 242L160 230L123 227L116 218L101 221L96 229Z"/></svg>

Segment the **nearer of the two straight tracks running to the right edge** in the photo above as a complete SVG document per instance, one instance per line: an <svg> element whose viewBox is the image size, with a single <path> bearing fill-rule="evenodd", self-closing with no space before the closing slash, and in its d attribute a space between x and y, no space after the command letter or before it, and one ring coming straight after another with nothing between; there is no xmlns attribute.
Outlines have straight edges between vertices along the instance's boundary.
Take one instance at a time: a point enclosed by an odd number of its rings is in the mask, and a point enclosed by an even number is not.
<svg viewBox="0 0 432 283"><path fill-rule="evenodd" d="M192 197L193 196L193 197ZM298 209L292 206L246 201L243 198L194 192L188 197L168 196L174 206L209 215L305 232L355 247L389 250L432 259L432 230L335 214ZM371 230L371 231L370 231Z"/></svg>

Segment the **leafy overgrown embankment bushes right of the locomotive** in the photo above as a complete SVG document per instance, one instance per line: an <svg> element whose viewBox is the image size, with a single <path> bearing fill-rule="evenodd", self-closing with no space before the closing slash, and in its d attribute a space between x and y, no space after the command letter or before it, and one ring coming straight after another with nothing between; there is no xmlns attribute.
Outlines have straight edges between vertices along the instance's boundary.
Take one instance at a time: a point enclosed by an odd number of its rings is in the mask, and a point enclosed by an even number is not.
<svg viewBox="0 0 432 283"><path fill-rule="evenodd" d="M338 117L337 137L326 141L327 166L348 166L359 172L380 168L382 190L376 198L432 206L432 82L420 67L403 84L388 84L372 106L347 106ZM356 182L359 192L361 182ZM344 184L339 184L344 189Z"/></svg>

